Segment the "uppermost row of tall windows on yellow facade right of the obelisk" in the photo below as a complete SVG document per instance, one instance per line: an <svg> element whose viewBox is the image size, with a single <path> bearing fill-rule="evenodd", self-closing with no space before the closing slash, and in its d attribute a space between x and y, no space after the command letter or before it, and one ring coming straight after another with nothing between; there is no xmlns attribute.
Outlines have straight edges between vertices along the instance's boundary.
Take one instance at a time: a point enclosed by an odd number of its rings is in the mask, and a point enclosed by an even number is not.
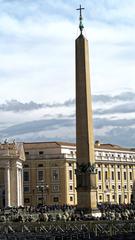
<svg viewBox="0 0 135 240"><path fill-rule="evenodd" d="M123 172L123 177L124 177L124 180L127 180L127 173L126 172ZM114 180L115 172L112 171L111 176L109 177L108 171L105 171L105 180L108 180L108 178L111 178L111 180ZM121 180L121 172L117 172L117 178L118 178L118 180ZM98 179L99 180L102 179L101 171L98 171ZM129 179L132 180L132 172L129 172Z"/></svg>

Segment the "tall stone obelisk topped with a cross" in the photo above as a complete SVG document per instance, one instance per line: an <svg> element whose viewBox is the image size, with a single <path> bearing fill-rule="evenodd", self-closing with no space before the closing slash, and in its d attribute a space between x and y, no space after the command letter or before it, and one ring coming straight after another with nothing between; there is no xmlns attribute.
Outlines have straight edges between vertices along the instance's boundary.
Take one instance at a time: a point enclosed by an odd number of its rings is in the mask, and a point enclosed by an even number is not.
<svg viewBox="0 0 135 240"><path fill-rule="evenodd" d="M76 39L76 147L77 147L77 199L78 209L89 212L97 208L96 169L90 89L88 41L83 36L82 9L80 35Z"/></svg>

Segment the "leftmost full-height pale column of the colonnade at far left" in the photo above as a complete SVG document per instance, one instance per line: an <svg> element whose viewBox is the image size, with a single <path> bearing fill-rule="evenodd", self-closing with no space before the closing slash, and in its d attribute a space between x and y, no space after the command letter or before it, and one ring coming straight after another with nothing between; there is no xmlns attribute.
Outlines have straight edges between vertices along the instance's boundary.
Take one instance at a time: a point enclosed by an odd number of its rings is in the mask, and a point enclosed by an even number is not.
<svg viewBox="0 0 135 240"><path fill-rule="evenodd" d="M5 207L10 206L10 168L5 168Z"/></svg>

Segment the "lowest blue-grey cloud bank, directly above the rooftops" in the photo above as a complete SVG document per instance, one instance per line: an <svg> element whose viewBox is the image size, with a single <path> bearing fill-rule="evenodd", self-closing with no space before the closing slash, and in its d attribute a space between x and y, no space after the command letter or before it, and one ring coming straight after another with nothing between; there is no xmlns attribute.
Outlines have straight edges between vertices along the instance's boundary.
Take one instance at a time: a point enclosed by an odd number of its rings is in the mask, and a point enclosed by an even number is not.
<svg viewBox="0 0 135 240"><path fill-rule="evenodd" d="M63 116L62 116L63 117ZM122 146L134 146L135 119L115 120L94 119L95 140L114 143ZM109 127L111 129L109 130ZM104 134L102 129L105 128ZM100 132L100 135L99 135ZM126 137L125 137L126 136ZM44 119L25 122L7 127L0 131L0 138L16 141L70 141L75 142L75 118L71 116L62 118Z"/></svg>

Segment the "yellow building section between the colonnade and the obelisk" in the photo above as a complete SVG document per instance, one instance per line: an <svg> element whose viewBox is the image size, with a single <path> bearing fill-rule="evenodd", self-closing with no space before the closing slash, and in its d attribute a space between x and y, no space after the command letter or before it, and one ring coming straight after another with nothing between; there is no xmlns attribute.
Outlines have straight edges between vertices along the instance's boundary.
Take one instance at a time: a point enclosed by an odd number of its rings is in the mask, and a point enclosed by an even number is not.
<svg viewBox="0 0 135 240"><path fill-rule="evenodd" d="M75 144L24 143L24 203L77 204Z"/></svg>

